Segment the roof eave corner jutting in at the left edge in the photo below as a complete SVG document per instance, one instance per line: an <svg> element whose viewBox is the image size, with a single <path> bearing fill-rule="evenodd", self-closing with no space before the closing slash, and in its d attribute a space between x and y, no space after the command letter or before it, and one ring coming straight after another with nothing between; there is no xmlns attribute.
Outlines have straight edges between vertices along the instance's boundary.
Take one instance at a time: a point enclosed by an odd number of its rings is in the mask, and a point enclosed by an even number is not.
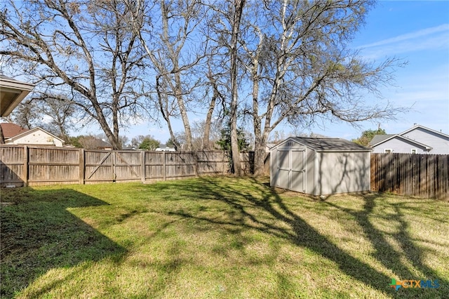
<svg viewBox="0 0 449 299"><path fill-rule="evenodd" d="M34 84L0 75L0 117L7 117L33 87Z"/></svg>

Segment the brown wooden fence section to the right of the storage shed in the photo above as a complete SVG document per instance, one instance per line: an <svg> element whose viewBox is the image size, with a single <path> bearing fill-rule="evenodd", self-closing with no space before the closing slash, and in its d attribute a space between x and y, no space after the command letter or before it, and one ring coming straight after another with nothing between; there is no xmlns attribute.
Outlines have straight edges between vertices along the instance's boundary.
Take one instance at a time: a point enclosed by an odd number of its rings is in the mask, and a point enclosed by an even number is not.
<svg viewBox="0 0 449 299"><path fill-rule="evenodd" d="M371 154L371 190L449 200L449 155Z"/></svg>

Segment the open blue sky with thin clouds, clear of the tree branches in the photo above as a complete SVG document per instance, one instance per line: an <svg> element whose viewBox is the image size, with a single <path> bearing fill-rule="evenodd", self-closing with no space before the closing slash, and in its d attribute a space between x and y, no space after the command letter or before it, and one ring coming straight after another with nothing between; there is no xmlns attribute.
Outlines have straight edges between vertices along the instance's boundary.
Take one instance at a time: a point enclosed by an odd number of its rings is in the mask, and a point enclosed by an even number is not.
<svg viewBox="0 0 449 299"><path fill-rule="evenodd" d="M352 46L369 60L396 57L408 62L396 69L394 86L382 89L384 101L407 109L396 120L366 121L357 128L325 122L306 130L284 124L275 131L351 140L379 124L387 133L401 133L420 124L449 134L449 1L380 1ZM193 114L191 119L195 119ZM175 122L175 131L182 131L180 121ZM169 138L168 130L155 124L133 126L123 133L129 137L151 134L161 142Z"/></svg>

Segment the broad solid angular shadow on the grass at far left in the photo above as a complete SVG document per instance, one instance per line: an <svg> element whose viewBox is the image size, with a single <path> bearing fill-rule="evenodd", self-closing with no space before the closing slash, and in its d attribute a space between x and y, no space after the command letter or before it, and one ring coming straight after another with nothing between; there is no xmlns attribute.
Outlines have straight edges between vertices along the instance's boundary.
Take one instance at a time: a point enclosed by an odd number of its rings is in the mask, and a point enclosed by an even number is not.
<svg viewBox="0 0 449 299"><path fill-rule="evenodd" d="M10 298L48 270L119 257L125 249L67 211L106 205L75 190L1 190L1 298ZM64 279L51 281L39 297Z"/></svg>

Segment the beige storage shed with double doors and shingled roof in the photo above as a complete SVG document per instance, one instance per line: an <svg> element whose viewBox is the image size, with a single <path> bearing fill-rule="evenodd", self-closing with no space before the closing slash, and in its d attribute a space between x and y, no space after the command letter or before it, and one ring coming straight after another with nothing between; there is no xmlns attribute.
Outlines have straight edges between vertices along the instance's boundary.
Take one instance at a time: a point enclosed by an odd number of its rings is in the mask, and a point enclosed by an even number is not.
<svg viewBox="0 0 449 299"><path fill-rule="evenodd" d="M271 150L270 184L312 195L368 191L370 152L340 138L290 137Z"/></svg>

